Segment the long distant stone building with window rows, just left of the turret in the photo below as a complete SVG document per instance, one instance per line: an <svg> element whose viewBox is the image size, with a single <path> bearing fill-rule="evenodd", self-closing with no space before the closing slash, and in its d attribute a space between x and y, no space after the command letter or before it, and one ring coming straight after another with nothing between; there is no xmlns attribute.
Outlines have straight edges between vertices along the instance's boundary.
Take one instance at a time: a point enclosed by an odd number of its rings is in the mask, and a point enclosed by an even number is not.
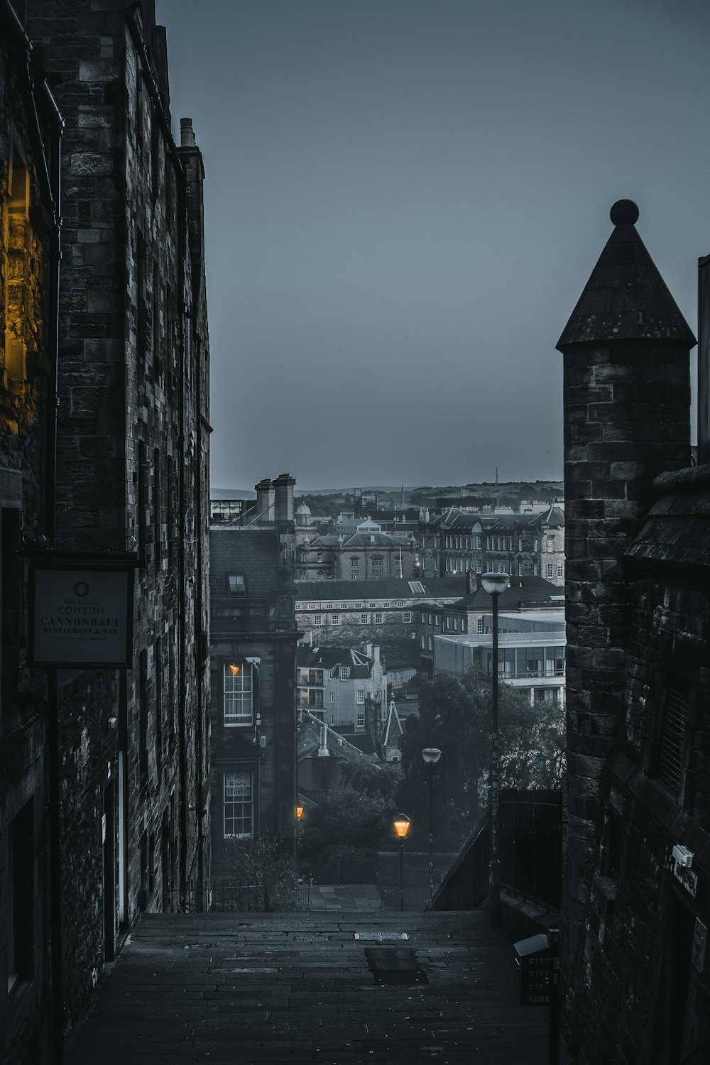
<svg viewBox="0 0 710 1065"><path fill-rule="evenodd" d="M483 514L449 508L419 529L425 575L502 571L564 586L564 511Z"/></svg>

